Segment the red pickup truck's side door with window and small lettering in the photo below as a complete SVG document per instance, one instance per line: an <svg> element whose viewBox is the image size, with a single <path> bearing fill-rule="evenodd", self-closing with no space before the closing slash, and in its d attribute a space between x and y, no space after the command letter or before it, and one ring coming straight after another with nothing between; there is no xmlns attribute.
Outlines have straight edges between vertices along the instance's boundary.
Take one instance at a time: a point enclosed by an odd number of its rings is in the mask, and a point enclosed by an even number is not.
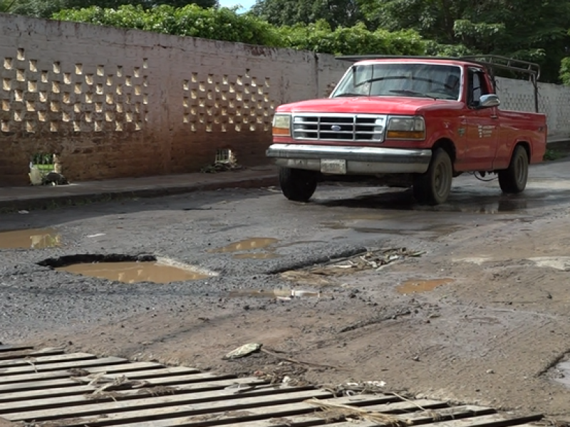
<svg viewBox="0 0 570 427"><path fill-rule="evenodd" d="M467 156L469 169L490 171L499 142L497 107L479 108L481 95L492 93L484 71L468 68L467 75Z"/></svg>

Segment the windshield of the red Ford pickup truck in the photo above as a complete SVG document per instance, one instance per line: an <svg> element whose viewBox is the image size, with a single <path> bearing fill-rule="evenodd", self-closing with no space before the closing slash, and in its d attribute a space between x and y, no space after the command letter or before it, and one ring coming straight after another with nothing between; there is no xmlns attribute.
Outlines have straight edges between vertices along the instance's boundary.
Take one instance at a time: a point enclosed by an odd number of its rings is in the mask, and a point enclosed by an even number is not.
<svg viewBox="0 0 570 427"><path fill-rule="evenodd" d="M461 68L457 65L375 63L354 65L331 97L410 96L458 100Z"/></svg>

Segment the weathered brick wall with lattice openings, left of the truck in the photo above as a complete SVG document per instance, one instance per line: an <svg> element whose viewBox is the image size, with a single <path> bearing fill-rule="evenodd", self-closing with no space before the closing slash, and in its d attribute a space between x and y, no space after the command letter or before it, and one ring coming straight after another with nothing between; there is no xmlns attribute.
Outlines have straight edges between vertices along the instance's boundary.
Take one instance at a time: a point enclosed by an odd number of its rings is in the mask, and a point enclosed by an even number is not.
<svg viewBox="0 0 570 427"><path fill-rule="evenodd" d="M331 56L0 14L0 186L36 152L73 181L263 164L274 108L324 96Z"/></svg>

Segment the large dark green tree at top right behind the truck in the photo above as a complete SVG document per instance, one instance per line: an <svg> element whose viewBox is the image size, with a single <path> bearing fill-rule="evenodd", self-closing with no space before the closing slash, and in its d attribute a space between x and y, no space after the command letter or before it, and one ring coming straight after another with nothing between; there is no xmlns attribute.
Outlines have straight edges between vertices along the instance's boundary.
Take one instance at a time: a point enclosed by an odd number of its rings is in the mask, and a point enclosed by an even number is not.
<svg viewBox="0 0 570 427"><path fill-rule="evenodd" d="M413 28L458 51L534 60L556 81L570 46L570 0L359 0L369 26ZM432 46L432 51L438 51Z"/></svg>

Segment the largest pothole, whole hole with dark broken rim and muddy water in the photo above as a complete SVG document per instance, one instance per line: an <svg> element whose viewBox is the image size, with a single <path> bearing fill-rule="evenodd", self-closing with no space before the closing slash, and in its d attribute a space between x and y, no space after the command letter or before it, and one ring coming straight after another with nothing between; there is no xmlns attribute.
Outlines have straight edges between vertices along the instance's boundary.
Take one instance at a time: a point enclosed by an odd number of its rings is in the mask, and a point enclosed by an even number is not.
<svg viewBox="0 0 570 427"><path fill-rule="evenodd" d="M217 273L154 255L68 255L49 258L39 265L56 271L122 283L173 283L201 280Z"/></svg>

